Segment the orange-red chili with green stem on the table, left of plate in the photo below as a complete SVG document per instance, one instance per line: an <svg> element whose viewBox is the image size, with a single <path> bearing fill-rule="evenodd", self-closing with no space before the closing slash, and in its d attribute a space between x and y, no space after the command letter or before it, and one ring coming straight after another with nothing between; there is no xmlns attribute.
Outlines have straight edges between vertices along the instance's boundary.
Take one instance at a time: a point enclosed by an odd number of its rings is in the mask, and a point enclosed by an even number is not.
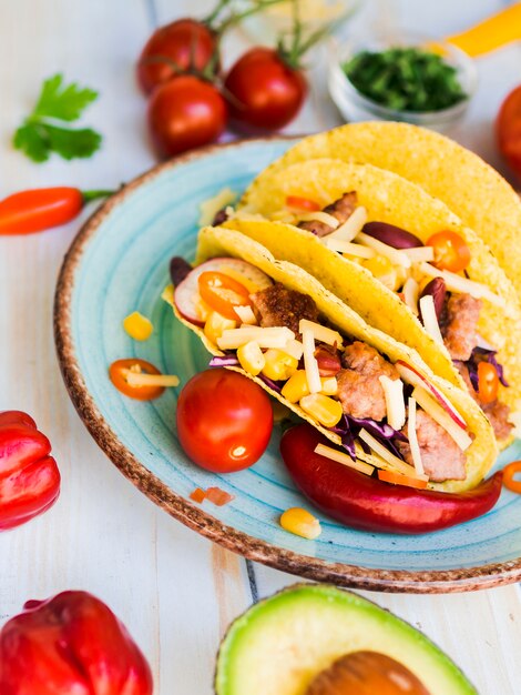
<svg viewBox="0 0 521 695"><path fill-rule="evenodd" d="M68 187L32 189L0 201L0 235L32 234L78 216L83 207L113 191L80 191Z"/></svg>

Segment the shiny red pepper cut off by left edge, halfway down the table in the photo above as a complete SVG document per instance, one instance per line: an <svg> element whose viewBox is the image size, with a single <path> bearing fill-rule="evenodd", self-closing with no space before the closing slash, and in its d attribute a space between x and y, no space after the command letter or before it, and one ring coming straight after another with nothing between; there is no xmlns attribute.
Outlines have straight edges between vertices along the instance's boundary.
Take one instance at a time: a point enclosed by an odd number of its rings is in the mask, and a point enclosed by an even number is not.
<svg viewBox="0 0 521 695"><path fill-rule="evenodd" d="M24 524L57 501L60 472L50 452L27 413L0 413L0 531Z"/></svg>

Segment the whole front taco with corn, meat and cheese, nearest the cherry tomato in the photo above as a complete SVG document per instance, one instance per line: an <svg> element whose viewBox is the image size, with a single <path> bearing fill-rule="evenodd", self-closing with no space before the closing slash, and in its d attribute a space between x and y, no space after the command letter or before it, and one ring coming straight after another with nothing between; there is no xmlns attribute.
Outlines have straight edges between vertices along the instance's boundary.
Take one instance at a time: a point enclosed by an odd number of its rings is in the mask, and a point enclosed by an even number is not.
<svg viewBox="0 0 521 695"><path fill-rule="evenodd" d="M354 460L446 492L476 486L496 460L467 392L244 234L203 229L196 266L163 298L212 365L254 380Z"/></svg>

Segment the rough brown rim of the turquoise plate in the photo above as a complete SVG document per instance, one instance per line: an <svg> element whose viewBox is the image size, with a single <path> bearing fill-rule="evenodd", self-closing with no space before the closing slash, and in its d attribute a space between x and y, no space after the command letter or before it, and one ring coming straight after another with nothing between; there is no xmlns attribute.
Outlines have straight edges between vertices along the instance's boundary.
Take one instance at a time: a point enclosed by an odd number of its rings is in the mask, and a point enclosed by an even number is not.
<svg viewBox="0 0 521 695"><path fill-rule="evenodd" d="M276 140L297 140L302 135L273 135L212 144L152 167L124 184L82 224L72 240L58 275L53 303L54 344L60 371L69 396L91 436L119 471L167 514L214 543L276 570L318 582L348 588L392 593L438 594L492 588L521 581L521 557L517 560L453 570L405 571L381 570L331 563L279 547L223 524L202 507L185 500L149 471L119 440L110 427L83 380L72 340L72 296L76 271L83 253L99 228L114 208L143 184L170 169L182 168L195 160L226 149Z"/></svg>

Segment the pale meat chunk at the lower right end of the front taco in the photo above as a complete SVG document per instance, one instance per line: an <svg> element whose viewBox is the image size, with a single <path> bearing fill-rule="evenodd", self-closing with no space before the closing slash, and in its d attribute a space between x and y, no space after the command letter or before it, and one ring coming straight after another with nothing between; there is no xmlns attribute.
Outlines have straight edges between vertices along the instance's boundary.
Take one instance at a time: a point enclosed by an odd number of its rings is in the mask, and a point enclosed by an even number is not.
<svg viewBox="0 0 521 695"><path fill-rule="evenodd" d="M402 433L407 436L407 424ZM423 470L431 481L464 481L464 453L446 430L422 410L416 413L416 434ZM396 441L395 444L407 463L412 465L409 443Z"/></svg>

